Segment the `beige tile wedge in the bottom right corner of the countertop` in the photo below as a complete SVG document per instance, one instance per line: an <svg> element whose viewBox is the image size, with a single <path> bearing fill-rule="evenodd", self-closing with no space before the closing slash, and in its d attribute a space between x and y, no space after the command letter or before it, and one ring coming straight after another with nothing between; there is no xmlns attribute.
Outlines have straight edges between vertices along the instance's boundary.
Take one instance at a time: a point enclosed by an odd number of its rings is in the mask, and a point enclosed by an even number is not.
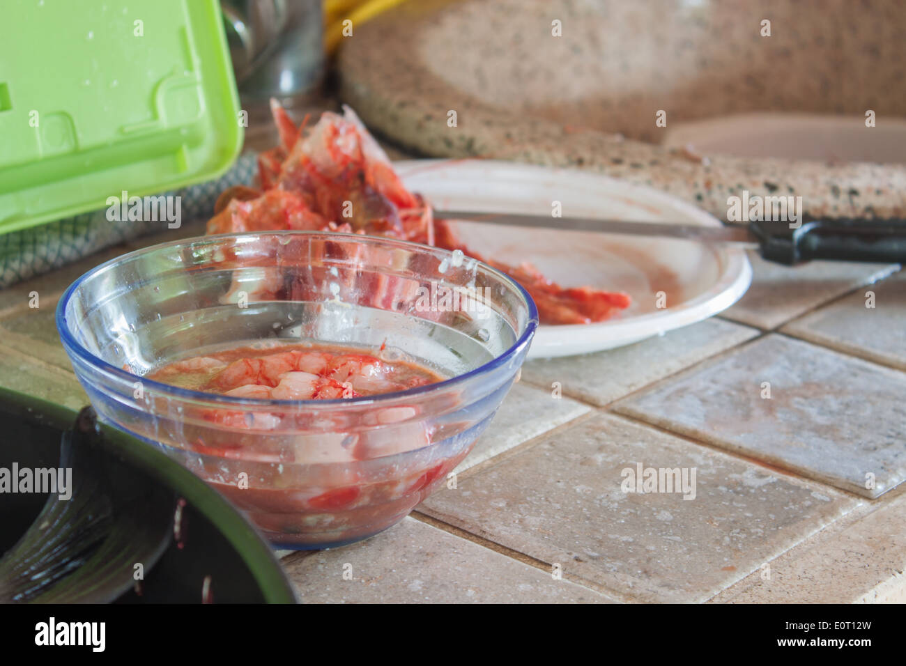
<svg viewBox="0 0 906 666"><path fill-rule="evenodd" d="M712 601L906 602L906 494L866 508L867 515L853 516L863 513L856 509Z"/></svg>

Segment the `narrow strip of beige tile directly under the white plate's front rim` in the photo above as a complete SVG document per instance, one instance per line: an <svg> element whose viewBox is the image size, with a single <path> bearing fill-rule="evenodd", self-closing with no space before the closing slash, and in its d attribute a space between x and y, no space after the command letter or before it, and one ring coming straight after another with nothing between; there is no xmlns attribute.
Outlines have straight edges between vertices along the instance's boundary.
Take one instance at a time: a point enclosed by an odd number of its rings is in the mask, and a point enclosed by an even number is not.
<svg viewBox="0 0 906 666"><path fill-rule="evenodd" d="M525 363L522 376L551 390L604 406L757 335L736 323L709 319L608 352Z"/></svg>

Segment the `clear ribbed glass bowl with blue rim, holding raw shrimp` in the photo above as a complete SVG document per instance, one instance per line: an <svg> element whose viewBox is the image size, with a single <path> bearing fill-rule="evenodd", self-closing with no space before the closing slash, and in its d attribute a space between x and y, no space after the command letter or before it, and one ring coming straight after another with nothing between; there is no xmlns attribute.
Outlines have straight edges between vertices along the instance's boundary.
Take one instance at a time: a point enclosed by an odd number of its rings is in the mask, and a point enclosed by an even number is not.
<svg viewBox="0 0 906 666"><path fill-rule="evenodd" d="M515 381L537 318L525 289L461 253L300 231L132 252L82 275L56 312L101 420L161 447L272 543L299 549L376 534L446 482ZM356 347L446 379L281 401L144 377L252 341Z"/></svg>

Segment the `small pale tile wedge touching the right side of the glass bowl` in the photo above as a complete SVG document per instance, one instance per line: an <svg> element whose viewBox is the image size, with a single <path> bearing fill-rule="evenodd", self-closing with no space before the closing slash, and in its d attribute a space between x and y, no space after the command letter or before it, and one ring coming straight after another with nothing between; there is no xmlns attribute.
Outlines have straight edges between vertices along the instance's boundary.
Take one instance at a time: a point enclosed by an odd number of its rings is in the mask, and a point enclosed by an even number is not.
<svg viewBox="0 0 906 666"><path fill-rule="evenodd" d="M554 398L547 391L517 383L500 405L491 425L478 438L475 448L459 463L456 471L464 472L591 409L581 402L563 397Z"/></svg>

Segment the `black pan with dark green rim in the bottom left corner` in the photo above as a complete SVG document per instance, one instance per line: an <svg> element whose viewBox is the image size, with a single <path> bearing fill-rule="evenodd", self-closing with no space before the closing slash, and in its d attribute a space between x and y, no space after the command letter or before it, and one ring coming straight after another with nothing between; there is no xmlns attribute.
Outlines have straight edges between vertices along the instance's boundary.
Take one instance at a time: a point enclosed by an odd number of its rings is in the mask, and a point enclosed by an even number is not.
<svg viewBox="0 0 906 666"><path fill-rule="evenodd" d="M0 388L0 603L294 602L270 545L188 469L91 408Z"/></svg>

